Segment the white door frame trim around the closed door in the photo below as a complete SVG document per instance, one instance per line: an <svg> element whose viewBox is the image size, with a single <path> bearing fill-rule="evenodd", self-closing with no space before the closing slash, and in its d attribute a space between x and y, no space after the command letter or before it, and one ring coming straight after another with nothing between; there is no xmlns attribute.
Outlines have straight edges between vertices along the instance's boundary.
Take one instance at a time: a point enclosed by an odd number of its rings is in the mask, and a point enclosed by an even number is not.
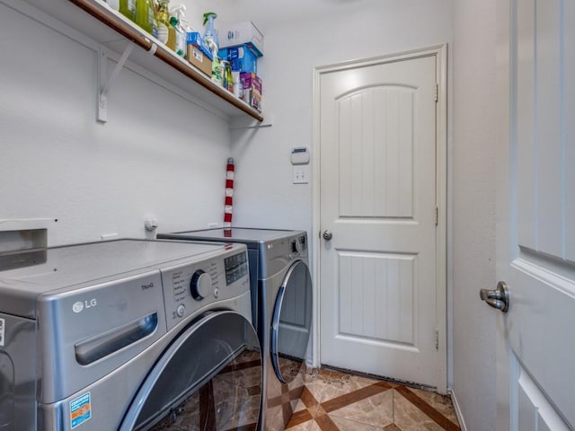
<svg viewBox="0 0 575 431"><path fill-rule="evenodd" d="M320 79L323 74L341 71L353 67L373 66L408 60L419 57L435 56L438 77L438 102L436 105L436 205L438 207L438 227L436 229L436 295L444 298L438 301L438 374L441 382L440 393L447 393L447 44L420 48L386 56L349 60L326 66L314 67L314 106L313 106L313 142L312 153L312 201L313 222L311 232L312 268L314 269L314 321L312 365L320 366ZM440 317L440 316L443 316Z"/></svg>

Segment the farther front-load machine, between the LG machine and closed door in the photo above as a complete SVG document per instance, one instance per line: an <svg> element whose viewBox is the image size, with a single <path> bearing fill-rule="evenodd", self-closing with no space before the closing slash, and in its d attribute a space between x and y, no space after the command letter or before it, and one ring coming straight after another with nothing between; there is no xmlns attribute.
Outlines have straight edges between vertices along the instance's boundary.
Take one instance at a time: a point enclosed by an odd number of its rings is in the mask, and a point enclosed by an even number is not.
<svg viewBox="0 0 575 431"><path fill-rule="evenodd" d="M304 388L312 324L312 278L303 231L231 228L158 234L187 241L239 242L248 248L252 310L265 352L261 430L283 430Z"/></svg>

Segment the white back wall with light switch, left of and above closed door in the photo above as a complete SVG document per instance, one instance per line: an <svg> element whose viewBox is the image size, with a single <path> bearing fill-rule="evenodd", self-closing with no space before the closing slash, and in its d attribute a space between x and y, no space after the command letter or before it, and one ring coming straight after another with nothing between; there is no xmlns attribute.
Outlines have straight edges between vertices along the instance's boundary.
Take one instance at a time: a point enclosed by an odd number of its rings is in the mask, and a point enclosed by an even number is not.
<svg viewBox="0 0 575 431"><path fill-rule="evenodd" d="M241 16L242 11L236 12ZM449 43L451 4L434 1L415 8L389 1L351 2L332 8L327 15L293 13L294 20L290 13L258 17L267 47L258 65L265 76L263 106L273 121L270 128L231 131L231 154L236 162L234 221L237 225L289 227L309 233L314 306L318 307L319 228L314 220L319 216L317 181L321 154L314 142L314 134L318 133L313 110L314 68ZM358 22L370 29L369 34L358 32ZM299 146L308 147L311 154L311 177L306 184L292 181L290 154ZM317 366L318 312L314 319Z"/></svg>

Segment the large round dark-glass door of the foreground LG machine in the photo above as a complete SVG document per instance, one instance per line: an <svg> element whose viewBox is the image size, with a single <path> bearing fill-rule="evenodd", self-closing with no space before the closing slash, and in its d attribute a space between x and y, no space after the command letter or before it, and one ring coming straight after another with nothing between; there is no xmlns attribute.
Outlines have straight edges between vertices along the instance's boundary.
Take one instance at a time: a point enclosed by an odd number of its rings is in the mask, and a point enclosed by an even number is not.
<svg viewBox="0 0 575 431"><path fill-rule="evenodd" d="M261 387L252 324L237 312L208 312L158 359L119 429L255 431Z"/></svg>

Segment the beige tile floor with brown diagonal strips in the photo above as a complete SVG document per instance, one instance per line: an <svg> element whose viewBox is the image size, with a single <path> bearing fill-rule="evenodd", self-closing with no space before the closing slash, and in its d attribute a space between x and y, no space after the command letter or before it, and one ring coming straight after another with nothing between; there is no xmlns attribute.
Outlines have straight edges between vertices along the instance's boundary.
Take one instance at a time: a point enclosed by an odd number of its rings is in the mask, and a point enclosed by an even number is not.
<svg viewBox="0 0 575 431"><path fill-rule="evenodd" d="M305 373L286 431L459 430L451 399L431 391L331 370Z"/></svg>

